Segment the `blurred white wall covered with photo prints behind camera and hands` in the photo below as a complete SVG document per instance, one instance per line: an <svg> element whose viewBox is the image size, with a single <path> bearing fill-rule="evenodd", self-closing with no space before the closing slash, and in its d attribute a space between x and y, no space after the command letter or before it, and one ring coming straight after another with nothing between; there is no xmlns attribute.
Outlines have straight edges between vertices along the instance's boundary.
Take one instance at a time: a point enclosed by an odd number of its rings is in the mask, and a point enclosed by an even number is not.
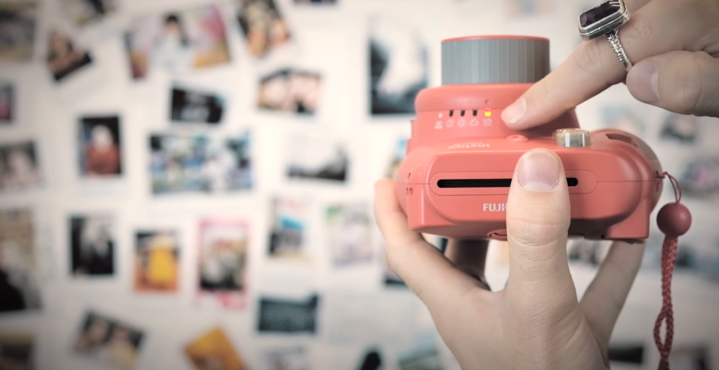
<svg viewBox="0 0 719 370"><path fill-rule="evenodd" d="M387 267L373 185L441 83L442 39L547 37L554 68L596 5L0 1L0 370L459 369ZM719 119L623 85L577 115L641 136L682 184L672 369L719 369ZM613 369L659 361L651 220ZM608 245L567 248L581 297ZM500 290L501 243L486 271Z"/></svg>

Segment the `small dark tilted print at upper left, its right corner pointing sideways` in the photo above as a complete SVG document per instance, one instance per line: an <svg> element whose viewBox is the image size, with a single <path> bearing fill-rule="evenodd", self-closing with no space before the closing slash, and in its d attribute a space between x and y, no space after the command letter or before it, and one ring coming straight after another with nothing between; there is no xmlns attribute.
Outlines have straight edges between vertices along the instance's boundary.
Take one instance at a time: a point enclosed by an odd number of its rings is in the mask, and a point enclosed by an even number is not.
<svg viewBox="0 0 719 370"><path fill-rule="evenodd" d="M90 54L78 49L67 34L52 30L47 48L47 69L55 82L63 82L92 65Z"/></svg>

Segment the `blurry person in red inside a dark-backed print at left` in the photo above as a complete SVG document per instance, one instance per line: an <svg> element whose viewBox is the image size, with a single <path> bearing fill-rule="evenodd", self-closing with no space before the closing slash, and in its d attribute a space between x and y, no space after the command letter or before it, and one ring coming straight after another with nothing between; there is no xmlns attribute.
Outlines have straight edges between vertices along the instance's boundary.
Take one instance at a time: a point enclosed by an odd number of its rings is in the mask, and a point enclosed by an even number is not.
<svg viewBox="0 0 719 370"><path fill-rule="evenodd" d="M105 125L96 125L91 130L83 171L85 176L120 174L120 150L114 143L112 132Z"/></svg>

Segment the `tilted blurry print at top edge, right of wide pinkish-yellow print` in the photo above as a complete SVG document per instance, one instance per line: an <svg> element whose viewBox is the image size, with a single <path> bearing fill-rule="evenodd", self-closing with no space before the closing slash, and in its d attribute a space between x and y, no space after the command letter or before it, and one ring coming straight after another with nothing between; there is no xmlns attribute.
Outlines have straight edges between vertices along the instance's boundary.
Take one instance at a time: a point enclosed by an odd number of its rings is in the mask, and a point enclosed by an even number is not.
<svg viewBox="0 0 719 370"><path fill-rule="evenodd" d="M275 0L238 1L237 22L252 57L265 57L290 41L290 28Z"/></svg>

